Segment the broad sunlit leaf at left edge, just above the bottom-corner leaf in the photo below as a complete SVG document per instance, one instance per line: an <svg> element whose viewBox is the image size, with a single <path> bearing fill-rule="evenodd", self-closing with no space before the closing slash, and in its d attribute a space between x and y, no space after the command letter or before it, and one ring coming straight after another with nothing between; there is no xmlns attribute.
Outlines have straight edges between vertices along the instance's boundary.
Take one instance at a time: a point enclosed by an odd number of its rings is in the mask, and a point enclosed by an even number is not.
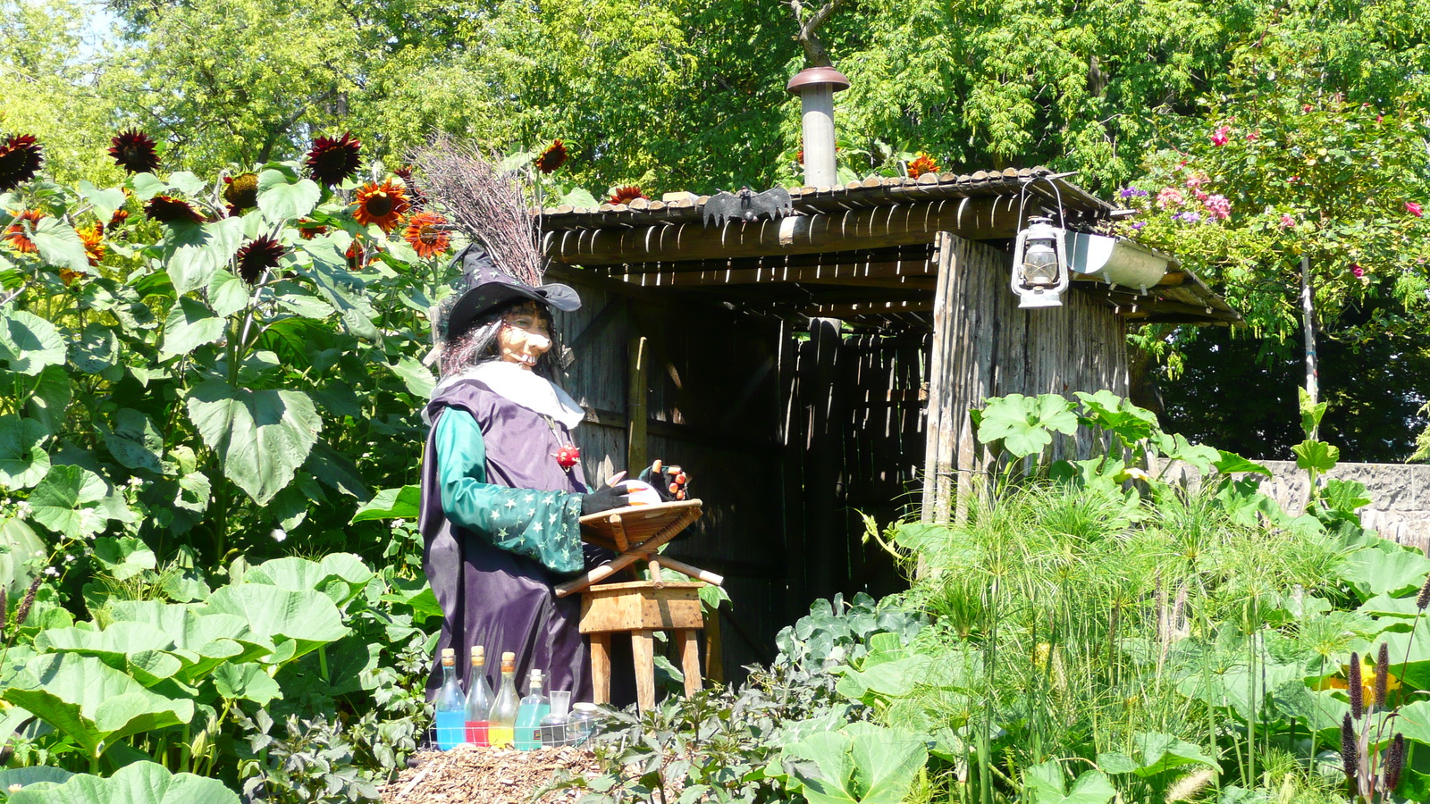
<svg viewBox="0 0 1430 804"><path fill-rule="evenodd" d="M96 755L132 734L193 720L193 701L150 692L103 661L79 654L34 657L0 697Z"/></svg>

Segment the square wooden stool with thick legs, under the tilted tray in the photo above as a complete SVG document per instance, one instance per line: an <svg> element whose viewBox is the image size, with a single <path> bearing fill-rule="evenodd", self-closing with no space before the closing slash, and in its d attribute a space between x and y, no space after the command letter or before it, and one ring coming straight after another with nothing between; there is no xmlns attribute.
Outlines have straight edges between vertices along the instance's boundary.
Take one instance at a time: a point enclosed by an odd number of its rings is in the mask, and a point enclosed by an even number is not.
<svg viewBox="0 0 1430 804"><path fill-rule="evenodd" d="M581 595L581 632L591 634L595 702L611 701L611 635L631 634L636 704L655 707L655 632L674 631L681 651L685 694L701 688L696 631L705 627L698 582L633 581L599 584Z"/></svg>

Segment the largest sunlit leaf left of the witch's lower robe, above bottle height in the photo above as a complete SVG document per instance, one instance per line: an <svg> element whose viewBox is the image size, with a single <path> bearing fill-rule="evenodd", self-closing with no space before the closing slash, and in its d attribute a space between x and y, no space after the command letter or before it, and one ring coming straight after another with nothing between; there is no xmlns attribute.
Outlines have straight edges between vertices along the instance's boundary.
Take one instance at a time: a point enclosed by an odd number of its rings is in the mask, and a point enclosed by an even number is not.
<svg viewBox="0 0 1430 804"><path fill-rule="evenodd" d="M210 612L243 617L255 634L292 639L295 657L347 634L333 601L312 589L236 584L213 592L204 607Z"/></svg>

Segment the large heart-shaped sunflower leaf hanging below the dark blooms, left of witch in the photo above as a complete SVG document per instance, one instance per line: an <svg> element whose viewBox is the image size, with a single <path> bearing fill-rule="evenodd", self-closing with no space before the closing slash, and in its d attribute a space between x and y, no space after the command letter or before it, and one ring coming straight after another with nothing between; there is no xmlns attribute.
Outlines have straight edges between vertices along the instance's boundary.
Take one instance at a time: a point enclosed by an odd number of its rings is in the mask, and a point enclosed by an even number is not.
<svg viewBox="0 0 1430 804"><path fill-rule="evenodd" d="M300 391L249 391L217 379L190 392L189 418L223 474L259 505L293 479L323 426Z"/></svg>

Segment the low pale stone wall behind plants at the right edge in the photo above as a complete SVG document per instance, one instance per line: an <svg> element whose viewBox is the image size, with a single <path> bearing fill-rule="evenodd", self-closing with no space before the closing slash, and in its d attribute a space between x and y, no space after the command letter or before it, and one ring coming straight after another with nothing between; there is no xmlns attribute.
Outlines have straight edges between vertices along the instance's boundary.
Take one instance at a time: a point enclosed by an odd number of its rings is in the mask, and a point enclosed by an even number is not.
<svg viewBox="0 0 1430 804"><path fill-rule="evenodd" d="M1273 478L1261 489L1287 511L1306 506L1306 471L1291 461L1261 461ZM1370 505L1360 521L1380 535L1416 545L1430 554L1430 465L1426 464L1340 464L1326 476L1366 484Z"/></svg>

